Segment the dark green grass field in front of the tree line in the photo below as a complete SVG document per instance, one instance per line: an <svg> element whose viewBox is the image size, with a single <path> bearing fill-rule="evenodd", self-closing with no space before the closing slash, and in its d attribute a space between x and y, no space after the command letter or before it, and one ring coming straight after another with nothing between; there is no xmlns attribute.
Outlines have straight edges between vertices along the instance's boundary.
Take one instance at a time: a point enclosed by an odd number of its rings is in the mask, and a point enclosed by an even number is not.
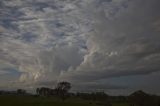
<svg viewBox="0 0 160 106"><path fill-rule="evenodd" d="M33 96L0 96L0 106L98 106L94 101L70 98L62 101L57 98ZM106 105L100 105L106 106ZM128 106L125 103L113 103L113 106Z"/></svg>

